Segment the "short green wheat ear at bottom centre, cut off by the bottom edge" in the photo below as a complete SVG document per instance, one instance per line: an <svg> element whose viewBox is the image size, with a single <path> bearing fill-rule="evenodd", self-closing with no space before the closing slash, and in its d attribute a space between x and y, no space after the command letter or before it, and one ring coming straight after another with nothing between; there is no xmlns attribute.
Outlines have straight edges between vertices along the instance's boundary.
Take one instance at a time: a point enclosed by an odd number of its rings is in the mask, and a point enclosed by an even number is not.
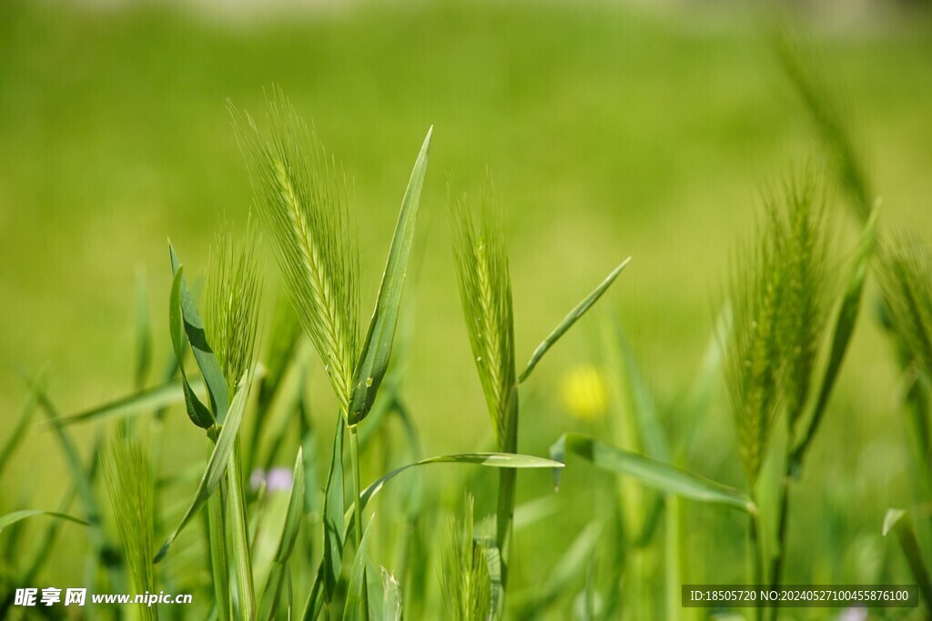
<svg viewBox="0 0 932 621"><path fill-rule="evenodd" d="M441 554L441 590L448 619L487 621L492 614L486 540L485 536L476 536L473 496L467 494L463 520L449 518Z"/></svg>

